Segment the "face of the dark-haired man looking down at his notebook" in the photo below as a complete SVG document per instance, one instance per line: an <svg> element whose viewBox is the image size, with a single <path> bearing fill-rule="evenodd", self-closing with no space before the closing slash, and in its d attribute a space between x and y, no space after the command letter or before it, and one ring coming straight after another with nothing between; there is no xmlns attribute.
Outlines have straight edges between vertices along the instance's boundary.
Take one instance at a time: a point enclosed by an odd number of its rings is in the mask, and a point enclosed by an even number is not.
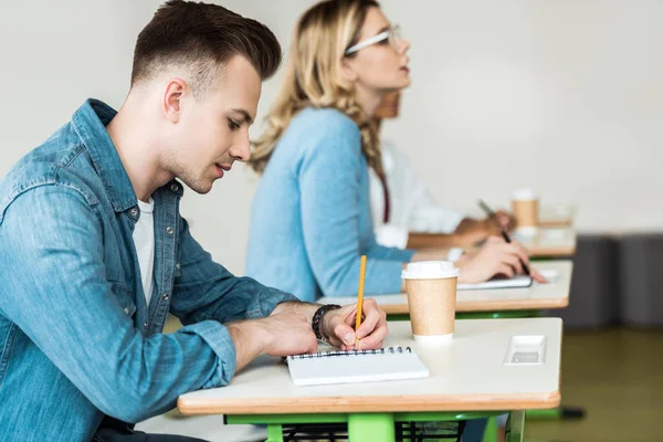
<svg viewBox="0 0 663 442"><path fill-rule="evenodd" d="M235 55L202 96L182 94L164 168L196 192L207 193L235 160L246 161L249 126L255 119L261 87L255 69Z"/></svg>

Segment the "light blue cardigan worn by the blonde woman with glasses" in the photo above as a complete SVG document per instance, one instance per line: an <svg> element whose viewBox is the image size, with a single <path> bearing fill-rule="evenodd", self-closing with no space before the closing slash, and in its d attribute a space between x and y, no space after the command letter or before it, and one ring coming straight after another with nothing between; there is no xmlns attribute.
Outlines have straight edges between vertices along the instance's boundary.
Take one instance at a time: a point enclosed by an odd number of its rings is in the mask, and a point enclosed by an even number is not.
<svg viewBox="0 0 663 442"><path fill-rule="evenodd" d="M413 252L376 243L359 128L336 109L299 112L280 139L251 211L246 274L303 301L399 293Z"/></svg>

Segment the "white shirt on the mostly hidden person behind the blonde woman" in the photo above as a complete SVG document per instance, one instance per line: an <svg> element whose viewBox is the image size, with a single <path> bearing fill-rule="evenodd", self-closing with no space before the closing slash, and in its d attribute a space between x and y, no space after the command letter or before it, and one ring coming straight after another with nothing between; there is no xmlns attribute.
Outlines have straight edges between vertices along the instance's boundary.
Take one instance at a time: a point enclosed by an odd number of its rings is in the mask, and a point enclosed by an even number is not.
<svg viewBox="0 0 663 442"><path fill-rule="evenodd" d="M376 239L379 244L404 249L409 232L452 233L465 213L442 207L410 167L408 156L393 144L382 140L382 168L389 187L389 223L385 215L385 192L372 169L370 175L370 206Z"/></svg>

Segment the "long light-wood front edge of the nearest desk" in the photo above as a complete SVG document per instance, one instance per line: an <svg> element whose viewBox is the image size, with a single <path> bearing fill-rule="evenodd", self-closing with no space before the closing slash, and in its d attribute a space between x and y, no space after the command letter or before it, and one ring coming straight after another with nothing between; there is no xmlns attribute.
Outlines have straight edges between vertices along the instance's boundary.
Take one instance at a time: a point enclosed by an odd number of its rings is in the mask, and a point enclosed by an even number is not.
<svg viewBox="0 0 663 442"><path fill-rule="evenodd" d="M490 398L486 398L490 396ZM551 409L559 390L526 394L372 396L362 398L188 399L180 397L182 414L311 414L358 412L430 412Z"/></svg>

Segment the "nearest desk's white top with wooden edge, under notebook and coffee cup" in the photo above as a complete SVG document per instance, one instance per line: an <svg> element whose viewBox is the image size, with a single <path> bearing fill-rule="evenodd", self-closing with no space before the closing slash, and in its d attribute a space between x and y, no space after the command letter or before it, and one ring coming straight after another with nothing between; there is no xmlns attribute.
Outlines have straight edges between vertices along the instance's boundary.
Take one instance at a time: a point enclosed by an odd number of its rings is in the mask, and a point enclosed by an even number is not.
<svg viewBox="0 0 663 442"><path fill-rule="evenodd" d="M559 404L561 319L456 320L453 340L414 343L409 322L390 322L385 346L409 346L427 379L295 387L280 359L260 357L228 387L180 396L186 414L291 414L525 410ZM513 336L547 337L545 364L507 366Z"/></svg>

